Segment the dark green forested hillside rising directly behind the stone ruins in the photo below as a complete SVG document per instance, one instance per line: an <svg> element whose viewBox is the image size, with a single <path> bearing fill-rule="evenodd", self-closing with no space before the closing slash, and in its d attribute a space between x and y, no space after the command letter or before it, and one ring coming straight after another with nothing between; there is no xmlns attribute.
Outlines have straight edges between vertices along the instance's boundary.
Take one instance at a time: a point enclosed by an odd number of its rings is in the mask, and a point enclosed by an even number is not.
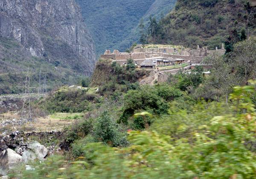
<svg viewBox="0 0 256 179"><path fill-rule="evenodd" d="M178 0L173 12L158 23L152 20L147 42L214 49L255 35L255 17L248 0Z"/></svg>

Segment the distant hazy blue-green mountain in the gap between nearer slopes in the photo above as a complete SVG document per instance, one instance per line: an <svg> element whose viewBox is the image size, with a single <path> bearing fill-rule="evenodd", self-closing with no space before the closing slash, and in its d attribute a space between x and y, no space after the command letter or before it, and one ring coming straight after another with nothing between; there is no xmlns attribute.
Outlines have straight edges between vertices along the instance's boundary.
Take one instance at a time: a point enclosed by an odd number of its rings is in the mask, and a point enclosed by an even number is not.
<svg viewBox="0 0 256 179"><path fill-rule="evenodd" d="M147 25L152 14L159 19L175 6L176 0L76 0L92 33L96 53L105 49L130 47L139 39L137 27L143 18Z"/></svg>

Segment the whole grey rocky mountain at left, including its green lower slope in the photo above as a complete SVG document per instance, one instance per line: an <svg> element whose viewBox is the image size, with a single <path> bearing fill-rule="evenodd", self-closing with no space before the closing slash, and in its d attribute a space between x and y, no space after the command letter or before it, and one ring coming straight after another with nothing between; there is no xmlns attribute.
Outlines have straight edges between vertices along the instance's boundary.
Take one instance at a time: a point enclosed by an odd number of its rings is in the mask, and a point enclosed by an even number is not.
<svg viewBox="0 0 256 179"><path fill-rule="evenodd" d="M72 83L77 75L92 74L94 51L75 0L0 1L1 82L30 67L47 72L50 81ZM13 91L7 88L2 92Z"/></svg>

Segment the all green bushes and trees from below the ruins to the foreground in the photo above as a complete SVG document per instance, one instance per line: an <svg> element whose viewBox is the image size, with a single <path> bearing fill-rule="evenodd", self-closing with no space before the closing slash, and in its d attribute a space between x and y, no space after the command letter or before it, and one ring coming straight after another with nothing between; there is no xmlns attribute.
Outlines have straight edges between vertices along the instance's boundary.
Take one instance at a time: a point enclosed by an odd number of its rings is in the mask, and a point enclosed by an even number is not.
<svg viewBox="0 0 256 179"><path fill-rule="evenodd" d="M47 99L48 110L85 112L65 130L67 153L32 164L35 170L22 165L10 176L256 178L255 48L256 39L241 41L230 54L205 60L212 63L209 76L197 66L152 86L131 86L132 61L126 67L99 62L96 68L112 70L105 87L62 88Z"/></svg>

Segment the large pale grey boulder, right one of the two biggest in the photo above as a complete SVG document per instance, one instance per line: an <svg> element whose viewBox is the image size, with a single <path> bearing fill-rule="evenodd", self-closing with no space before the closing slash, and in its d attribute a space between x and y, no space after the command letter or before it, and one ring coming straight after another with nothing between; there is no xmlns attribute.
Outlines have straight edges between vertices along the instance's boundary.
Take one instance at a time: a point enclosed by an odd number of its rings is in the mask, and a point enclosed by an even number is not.
<svg viewBox="0 0 256 179"><path fill-rule="evenodd" d="M25 163L33 161L35 159L42 160L47 156L48 150L44 145L41 145L38 141L33 141L27 145L29 150L22 153L22 158Z"/></svg>

